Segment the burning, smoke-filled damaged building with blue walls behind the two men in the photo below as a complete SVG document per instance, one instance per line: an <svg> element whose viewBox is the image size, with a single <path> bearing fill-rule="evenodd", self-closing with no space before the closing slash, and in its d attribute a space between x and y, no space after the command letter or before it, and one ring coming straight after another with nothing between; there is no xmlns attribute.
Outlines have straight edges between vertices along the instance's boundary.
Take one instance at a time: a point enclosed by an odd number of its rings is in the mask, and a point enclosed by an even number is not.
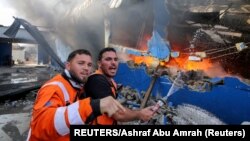
<svg viewBox="0 0 250 141"><path fill-rule="evenodd" d="M26 114L22 115L26 122L36 91L55 70L64 68L67 53L84 48L96 57L100 49L113 47L121 62L115 77L121 84L119 101L131 109L163 101L149 122L121 124L249 124L250 1L26 2L29 9L19 2L10 2L25 18L15 17L10 27L0 27L0 66L5 70L0 75L0 90L13 89L10 84L17 72L25 75L22 79L35 78L15 83L15 87L27 84L32 88L22 92L28 100L7 98L1 105L3 109L21 105L24 109L19 108L18 112ZM37 28L40 24L50 30ZM34 44L33 48L37 49L25 55L19 43ZM12 70L17 64L26 65L30 58L36 64L35 69ZM41 62L50 65L41 67ZM35 71L38 73L31 73ZM34 85L38 80L39 85ZM17 92L8 91L8 94ZM15 110L11 113L6 110L0 117L16 114ZM3 126L7 131L14 125ZM0 135L9 139L4 130ZM27 135L25 129L19 130L20 136Z"/></svg>

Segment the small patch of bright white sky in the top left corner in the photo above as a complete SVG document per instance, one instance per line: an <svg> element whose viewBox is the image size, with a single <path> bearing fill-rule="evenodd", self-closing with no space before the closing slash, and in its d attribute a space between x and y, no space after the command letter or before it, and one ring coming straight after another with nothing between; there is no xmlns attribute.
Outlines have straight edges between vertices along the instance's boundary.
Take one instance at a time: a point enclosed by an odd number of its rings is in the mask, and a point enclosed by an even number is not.
<svg viewBox="0 0 250 141"><path fill-rule="evenodd" d="M14 21L13 16L16 12L7 2L8 0L0 0L0 25L9 26Z"/></svg>

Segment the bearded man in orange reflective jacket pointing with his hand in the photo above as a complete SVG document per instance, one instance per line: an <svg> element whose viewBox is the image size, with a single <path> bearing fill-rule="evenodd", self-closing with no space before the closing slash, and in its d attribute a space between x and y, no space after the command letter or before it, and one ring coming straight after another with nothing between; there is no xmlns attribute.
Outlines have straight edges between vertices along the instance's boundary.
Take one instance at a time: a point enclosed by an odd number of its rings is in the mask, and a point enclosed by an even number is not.
<svg viewBox="0 0 250 141"><path fill-rule="evenodd" d="M37 94L27 140L69 141L70 125L89 124L103 113L111 116L125 110L112 97L79 100L91 70L89 51L80 49L69 55L64 72L46 82Z"/></svg>

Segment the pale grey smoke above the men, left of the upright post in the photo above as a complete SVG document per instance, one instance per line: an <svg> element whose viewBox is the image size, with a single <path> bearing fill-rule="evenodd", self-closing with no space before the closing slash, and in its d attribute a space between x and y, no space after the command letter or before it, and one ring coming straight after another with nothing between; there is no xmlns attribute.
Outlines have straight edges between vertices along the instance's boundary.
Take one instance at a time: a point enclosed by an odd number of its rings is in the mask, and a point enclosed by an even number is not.
<svg viewBox="0 0 250 141"><path fill-rule="evenodd" d="M96 50L103 47L103 3L93 4L93 0L10 0L9 3L19 13L18 17L53 30L72 49L85 48L96 56Z"/></svg>

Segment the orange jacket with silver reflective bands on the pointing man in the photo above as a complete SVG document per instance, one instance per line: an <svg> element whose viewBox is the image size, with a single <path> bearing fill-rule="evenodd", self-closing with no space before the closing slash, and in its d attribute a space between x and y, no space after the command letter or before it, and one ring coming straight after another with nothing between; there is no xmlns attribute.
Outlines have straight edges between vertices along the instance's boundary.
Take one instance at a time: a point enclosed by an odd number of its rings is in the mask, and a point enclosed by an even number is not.
<svg viewBox="0 0 250 141"><path fill-rule="evenodd" d="M45 83L34 103L27 140L69 141L70 125L85 124L93 116L91 99L77 99L77 90L62 75Z"/></svg>

